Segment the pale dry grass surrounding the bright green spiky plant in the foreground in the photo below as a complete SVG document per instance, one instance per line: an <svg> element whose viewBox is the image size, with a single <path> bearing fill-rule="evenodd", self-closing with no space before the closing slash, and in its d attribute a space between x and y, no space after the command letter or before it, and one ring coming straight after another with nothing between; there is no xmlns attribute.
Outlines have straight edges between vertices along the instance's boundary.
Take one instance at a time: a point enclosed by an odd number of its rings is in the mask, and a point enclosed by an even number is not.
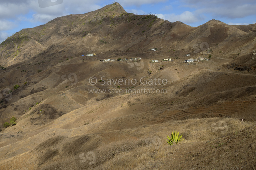
<svg viewBox="0 0 256 170"><path fill-rule="evenodd" d="M78 145L77 142L85 138L83 136L72 140L72 145L70 142L68 142L69 145L64 144L66 147L63 148L66 149L60 151L52 162L44 164L41 168L43 170L162 169L163 167L169 167L170 159L173 157L171 155L179 150L183 150L184 147L186 148L187 146L193 145L193 143L201 145L205 141L218 140L252 126L253 123L234 118L202 118L169 121L162 124L150 125L145 128L140 127L123 131L123 133L137 136L139 140L122 140L112 142L108 145L99 145L97 148L87 147L87 149L79 150L81 146L85 147L85 143L89 140L90 143L92 141L97 142L97 140L86 136L86 141L80 141ZM170 135L171 131L174 130L180 131L180 134L183 134L185 140L181 145L169 146L165 139L166 136ZM147 134L151 135L148 136ZM95 145L98 144L95 143ZM218 144L216 144L216 146L218 146ZM210 148L212 147L210 146ZM76 152L71 153L71 150ZM88 152L93 153L94 156L90 154L87 157L86 154ZM187 151L185 150L184 152L186 153ZM56 153L56 151L54 153ZM83 157L80 157L81 153L84 153L84 155L82 155L85 158L84 162L81 162L83 160ZM252 158L247 159L252 160ZM181 163L175 164L175 168L179 169L180 164L184 164L182 158Z"/></svg>

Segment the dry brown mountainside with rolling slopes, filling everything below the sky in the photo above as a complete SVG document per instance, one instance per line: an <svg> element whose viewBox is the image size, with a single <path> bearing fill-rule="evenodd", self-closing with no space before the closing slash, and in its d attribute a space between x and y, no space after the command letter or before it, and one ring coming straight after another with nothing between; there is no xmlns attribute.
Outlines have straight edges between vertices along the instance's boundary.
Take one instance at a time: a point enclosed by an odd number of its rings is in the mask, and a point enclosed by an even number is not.
<svg viewBox="0 0 256 170"><path fill-rule="evenodd" d="M113 3L15 33L0 44L0 169L255 169L254 30ZM172 131L185 139L168 145Z"/></svg>

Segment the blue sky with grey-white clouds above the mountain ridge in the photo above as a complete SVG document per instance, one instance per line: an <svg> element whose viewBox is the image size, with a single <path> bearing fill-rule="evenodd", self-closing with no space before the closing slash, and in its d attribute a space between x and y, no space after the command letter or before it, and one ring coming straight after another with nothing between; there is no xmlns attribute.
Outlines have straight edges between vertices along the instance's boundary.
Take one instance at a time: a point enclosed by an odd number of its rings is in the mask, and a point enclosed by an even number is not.
<svg viewBox="0 0 256 170"><path fill-rule="evenodd" d="M114 2L120 3L126 12L151 13L192 27L211 19L230 25L256 23L255 0L1 0L0 42L23 28L33 28L59 16L95 11Z"/></svg>

